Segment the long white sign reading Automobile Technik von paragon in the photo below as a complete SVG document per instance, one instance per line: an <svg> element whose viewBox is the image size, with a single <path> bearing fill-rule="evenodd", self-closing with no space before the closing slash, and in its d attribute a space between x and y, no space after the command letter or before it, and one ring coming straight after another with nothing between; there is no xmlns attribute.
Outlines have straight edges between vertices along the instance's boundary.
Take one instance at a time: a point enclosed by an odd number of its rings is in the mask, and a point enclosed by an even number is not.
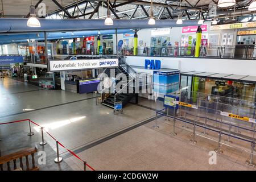
<svg viewBox="0 0 256 182"><path fill-rule="evenodd" d="M118 67L118 59L81 59L49 61L50 71L65 71L77 69L96 69Z"/></svg>

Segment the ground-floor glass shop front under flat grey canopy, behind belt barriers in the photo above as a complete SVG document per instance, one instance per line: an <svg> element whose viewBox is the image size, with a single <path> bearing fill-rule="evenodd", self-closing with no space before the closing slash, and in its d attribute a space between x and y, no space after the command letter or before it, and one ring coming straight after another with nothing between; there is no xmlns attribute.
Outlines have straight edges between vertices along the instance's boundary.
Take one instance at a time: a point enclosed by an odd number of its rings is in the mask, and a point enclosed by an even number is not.
<svg viewBox="0 0 256 182"><path fill-rule="evenodd" d="M188 91L188 97L193 93L204 93L222 97L237 98L246 101L256 101L256 76L233 75L211 72L181 72L180 88Z"/></svg>

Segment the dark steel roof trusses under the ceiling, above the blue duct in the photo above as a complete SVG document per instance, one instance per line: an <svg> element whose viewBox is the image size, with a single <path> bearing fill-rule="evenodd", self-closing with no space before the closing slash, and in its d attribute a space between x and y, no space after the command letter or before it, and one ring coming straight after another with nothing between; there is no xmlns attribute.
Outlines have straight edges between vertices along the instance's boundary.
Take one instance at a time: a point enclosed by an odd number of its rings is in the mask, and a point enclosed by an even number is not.
<svg viewBox="0 0 256 182"><path fill-rule="evenodd" d="M212 20L215 18L223 19L226 17L237 17L251 15L247 11L247 7L253 0L236 0L236 6L226 9L216 8L214 13L211 11L211 6L217 6L217 0L154 0L153 16L155 19L176 19L180 13L183 19L200 19ZM13 2L15 3L15 2ZM38 8L40 3L51 3L56 6L56 10L49 10L46 16L40 18L64 19L64 18L83 18L83 19L98 19L106 18L106 10L108 9L107 0L76 0L73 3L67 3L65 0L50 2L37 0L35 8ZM147 19L150 12L150 0L110 0L110 11L112 18L116 19ZM2 4L2 12L0 16L11 16L8 12L3 13L4 6ZM234 10L235 9L235 10ZM24 15L28 18L30 14Z"/></svg>

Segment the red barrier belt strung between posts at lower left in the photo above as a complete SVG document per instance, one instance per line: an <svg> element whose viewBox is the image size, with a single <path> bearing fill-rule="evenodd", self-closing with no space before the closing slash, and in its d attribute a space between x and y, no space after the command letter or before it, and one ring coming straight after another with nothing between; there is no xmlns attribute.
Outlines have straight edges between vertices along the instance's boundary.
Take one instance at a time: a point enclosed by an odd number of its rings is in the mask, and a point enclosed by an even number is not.
<svg viewBox="0 0 256 182"><path fill-rule="evenodd" d="M29 121L31 123L33 123L36 126L39 126L40 128L43 129L42 126L38 125L38 123L31 121L31 119L22 119L22 120L18 120L18 121L11 121L11 122L5 122L5 123L0 123L0 125L7 125L7 124L11 124L11 123L19 123L19 122L24 122L24 121ZM59 140L57 140L56 138L54 138L51 134L49 134L46 130L44 130L53 140L55 140L58 144L60 144L61 147L65 148L65 150L67 150L68 152L70 152L73 156L75 156L77 159L81 160L81 162L83 162L85 164L85 166L89 167L90 169L92 169L92 171L95 171L94 168L92 168L89 164L87 164L84 160L82 160L79 156L77 156L74 152L72 152L71 150L69 150L68 148L66 148L62 143L59 142Z"/></svg>

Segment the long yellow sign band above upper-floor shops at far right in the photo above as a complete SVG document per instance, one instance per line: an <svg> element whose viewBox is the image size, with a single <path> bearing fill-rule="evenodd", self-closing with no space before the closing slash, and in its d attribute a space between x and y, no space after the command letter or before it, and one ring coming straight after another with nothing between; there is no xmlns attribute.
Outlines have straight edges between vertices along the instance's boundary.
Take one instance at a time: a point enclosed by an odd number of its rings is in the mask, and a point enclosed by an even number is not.
<svg viewBox="0 0 256 182"><path fill-rule="evenodd" d="M226 29L252 28L252 27L256 27L256 22L218 24L218 25L210 26L210 30L226 30Z"/></svg>

